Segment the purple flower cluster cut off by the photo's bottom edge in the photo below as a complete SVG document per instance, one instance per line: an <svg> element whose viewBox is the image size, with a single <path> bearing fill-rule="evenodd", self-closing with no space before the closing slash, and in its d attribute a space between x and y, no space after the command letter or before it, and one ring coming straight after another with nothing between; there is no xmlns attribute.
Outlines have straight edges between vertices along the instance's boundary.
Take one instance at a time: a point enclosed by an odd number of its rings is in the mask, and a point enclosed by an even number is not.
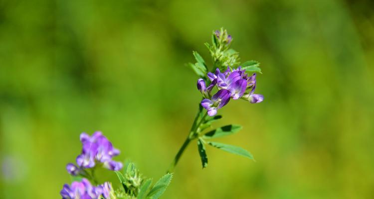
<svg viewBox="0 0 374 199"><path fill-rule="evenodd" d="M65 184L60 195L62 199L110 199L111 190L108 182L95 187L84 178L81 182L73 182L71 186Z"/></svg>

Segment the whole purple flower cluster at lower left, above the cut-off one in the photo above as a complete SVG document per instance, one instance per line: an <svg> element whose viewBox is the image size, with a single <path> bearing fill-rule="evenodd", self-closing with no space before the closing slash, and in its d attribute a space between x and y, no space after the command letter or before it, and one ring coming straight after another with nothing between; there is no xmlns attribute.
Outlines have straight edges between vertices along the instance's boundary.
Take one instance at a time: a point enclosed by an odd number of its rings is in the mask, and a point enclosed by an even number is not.
<svg viewBox="0 0 374 199"><path fill-rule="evenodd" d="M82 142L82 153L76 158L77 166L72 163L66 165L69 174L75 176L83 168L93 168L100 164L104 168L118 171L122 168L121 162L112 160L120 151L112 146L112 143L100 132L96 131L92 136L87 133L80 135Z"/></svg>

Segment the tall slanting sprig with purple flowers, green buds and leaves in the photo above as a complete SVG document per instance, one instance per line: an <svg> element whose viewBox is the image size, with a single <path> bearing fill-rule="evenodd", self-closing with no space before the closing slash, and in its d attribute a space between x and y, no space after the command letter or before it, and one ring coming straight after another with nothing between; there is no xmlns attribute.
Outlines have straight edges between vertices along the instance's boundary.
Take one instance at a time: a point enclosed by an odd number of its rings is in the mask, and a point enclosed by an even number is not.
<svg viewBox="0 0 374 199"><path fill-rule="evenodd" d="M168 170L169 172L174 170L187 145L194 139L197 139L197 148L202 168L205 168L208 164L205 152L206 144L229 153L253 159L252 154L243 148L207 141L212 138L236 133L241 129L240 125L230 124L210 131L205 130L213 122L222 118L221 115L217 115L218 109L225 106L231 99L242 99L250 103L259 103L264 100L262 95L254 94L256 89L256 72L261 73L260 64L253 60L240 64L239 53L230 48L233 38L223 28L214 31L211 38L212 44L205 43L213 62L211 72L208 72L208 67L204 59L196 51L193 51L196 63L190 63L189 66L199 76L197 89L202 95L202 100L186 141L174 158ZM248 73L250 72L253 74L249 75ZM207 82L209 84L206 84ZM206 112L203 109L206 109Z"/></svg>

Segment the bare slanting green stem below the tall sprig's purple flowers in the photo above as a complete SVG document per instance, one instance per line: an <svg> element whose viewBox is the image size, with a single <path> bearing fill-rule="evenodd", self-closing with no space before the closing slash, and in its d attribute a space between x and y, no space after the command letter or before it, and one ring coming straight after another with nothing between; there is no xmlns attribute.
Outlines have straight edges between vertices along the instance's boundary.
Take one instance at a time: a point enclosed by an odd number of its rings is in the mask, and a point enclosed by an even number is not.
<svg viewBox="0 0 374 199"><path fill-rule="evenodd" d="M200 116L201 111L202 111L202 109L199 109L199 111L197 112L196 117L195 117L195 119L194 119L194 121L193 121L193 124L192 124L192 126L191 126L191 130L189 131L189 134L188 134L188 136L187 136L185 142L183 143L182 147L179 149L179 151L178 151L176 157L174 158L172 164L170 165L170 167L169 167L167 173L172 173L172 172L173 172L173 170L174 170L174 168L177 166L178 161L179 161L179 159L181 158L183 152L184 152L185 149L187 148L189 142L197 137L197 134L198 134L197 130L199 129L200 125L203 124L203 122L205 121L205 117L206 117L206 115L207 115L207 112L206 112L206 113L201 117L199 123L196 125L197 120L199 119L199 116Z"/></svg>

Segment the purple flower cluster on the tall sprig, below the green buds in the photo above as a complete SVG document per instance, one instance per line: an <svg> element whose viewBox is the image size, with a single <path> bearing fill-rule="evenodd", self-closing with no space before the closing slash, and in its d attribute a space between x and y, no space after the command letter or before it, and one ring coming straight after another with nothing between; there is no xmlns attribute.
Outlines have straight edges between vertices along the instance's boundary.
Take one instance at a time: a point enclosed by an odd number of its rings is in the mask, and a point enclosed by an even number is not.
<svg viewBox="0 0 374 199"><path fill-rule="evenodd" d="M209 86L206 87L205 81L199 79L197 89L205 98L201 100L201 105L208 111L209 116L217 114L217 110L226 105L230 99L243 99L251 103L259 103L264 100L262 95L254 94L256 74L248 77L240 66L233 70L227 67L223 73L217 68L215 73L208 73L207 77L211 82ZM218 89L218 92L211 96L214 87Z"/></svg>

